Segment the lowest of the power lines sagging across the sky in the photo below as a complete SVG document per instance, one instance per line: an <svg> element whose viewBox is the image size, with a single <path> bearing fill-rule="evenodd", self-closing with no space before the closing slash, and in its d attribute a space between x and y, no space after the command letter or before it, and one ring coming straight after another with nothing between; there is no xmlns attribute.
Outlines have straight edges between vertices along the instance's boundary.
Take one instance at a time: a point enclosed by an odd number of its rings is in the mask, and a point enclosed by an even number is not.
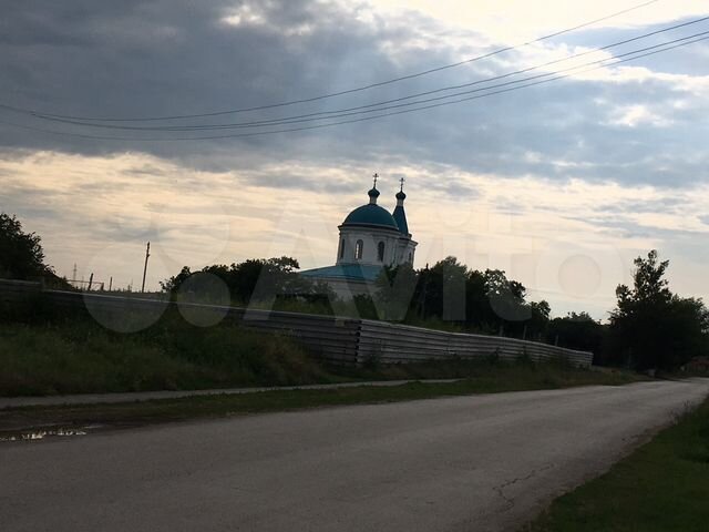
<svg viewBox="0 0 709 532"><path fill-rule="evenodd" d="M585 73L585 72L590 72L590 71L594 71L594 70L603 69L603 68L606 68L606 66L613 66L613 65L616 65L616 64L619 64L619 63L625 63L625 62L628 62L628 61L634 61L634 60L637 60L637 59L646 58L646 57L649 57L649 55L655 55L657 53L666 52L666 51L674 50L674 49L677 49L677 48L684 48L684 47L687 47L689 44L693 44L696 42L706 41L707 39L709 39L709 35L706 35L706 33L709 33L709 31L697 34L697 35L705 35L705 37L699 37L699 38L696 38L693 40L686 41L685 39L690 39L690 38L696 37L696 35L690 35L689 38L684 38L682 39L684 42L678 42L678 43L675 43L674 45L667 45L668 43L657 44L655 47L650 47L650 48L655 48L655 50L653 50L653 51L640 53L640 54L637 54L637 55L634 55L634 57L630 57L630 58L620 59L620 60L614 61L613 63L609 63L609 64L600 64L600 65L596 64L596 65L590 66L590 68L588 68L586 70L583 70L583 71L580 71L578 73ZM672 42L676 42L676 41L672 41ZM658 50L658 49L656 49L658 47L665 47L665 48L661 48L661 49ZM628 52L628 53L637 53L637 51ZM606 60L603 60L603 61L604 62L605 61L612 61L614 59L617 59L617 58L609 58L609 59L606 59ZM580 68L580 66L576 66L573 70L577 70L578 68ZM484 93L484 94L476 94L476 95L473 95L473 96L466 96L466 98L462 98L462 99L459 99L459 100L433 103L433 104L430 104L430 105L424 105L424 106L420 106L420 108L415 108L415 109L404 109L404 110L401 110L401 111L394 111L394 112L383 113L383 114L373 115L373 116L363 116L363 117L357 117L357 119L351 119L351 120L343 120L343 121L338 121L338 122L331 122L331 123L328 123L328 124L316 124L316 125L309 125L309 126L290 127L290 129L282 129L282 130L271 130L271 131L260 131L260 132L254 132L254 133L236 133L236 134L222 134L222 135L209 135L209 136L189 136L189 137L146 137L146 139L136 139L136 137L125 137L125 136L104 136L104 135L90 135L90 134L72 133L72 132L59 132L59 131L45 130L45 129L42 129L42 127L34 127L34 126L30 126L30 125L25 125L25 124L17 124L17 123L7 122L7 121L0 121L0 123L6 124L6 125L12 125L12 126L17 126L17 127L22 127L22 129L25 129L25 130L61 135L61 136L73 136L73 137L81 137L81 139L107 140L107 141L175 142L175 141L204 141L204 140L219 140L219 139L253 137L253 136L264 136L264 135L273 135L273 134L279 134L279 133L291 133L291 132L299 132L299 131L318 130L318 129L323 129L323 127L332 127L332 126L336 126L336 125L351 124L351 123L357 123L357 122L366 122L366 121L370 121L370 120L390 117L390 116L395 116L395 115L399 115L399 114L408 114L408 113L413 113L413 112L418 112L418 111L425 111L425 110L441 108L441 106L445 106L445 105L453 105L453 104L456 104L456 103L467 102L467 101L472 101L472 100L479 100L479 99L482 99L482 98L487 98L487 96L492 96L492 95L496 95L496 94L503 94L503 93L507 93L507 92L512 92L512 91L516 91L516 90L521 90L521 89L526 89L526 88L530 88L530 86L535 86L535 85L540 85L540 84L544 84L544 83L549 83L549 82L553 82L553 81L557 81L557 80L569 78L571 75L573 75L573 74L572 73L565 73L565 74L556 75L554 78L548 78L548 79L544 79L544 80L537 80L537 81L534 81L534 82L531 82L531 83L516 85L516 86L511 86L511 88L506 88L506 89L501 89L501 90L489 92L489 93ZM415 102L415 103L422 103L422 102ZM381 110L378 110L378 111L381 111Z"/></svg>

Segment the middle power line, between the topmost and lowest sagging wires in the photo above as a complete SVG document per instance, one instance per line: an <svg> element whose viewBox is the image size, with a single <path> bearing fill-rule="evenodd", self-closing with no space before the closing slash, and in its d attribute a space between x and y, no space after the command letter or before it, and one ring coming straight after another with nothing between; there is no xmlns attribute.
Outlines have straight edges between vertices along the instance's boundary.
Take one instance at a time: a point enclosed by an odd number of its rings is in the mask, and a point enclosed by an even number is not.
<svg viewBox="0 0 709 532"><path fill-rule="evenodd" d="M511 78L513 75L517 75L517 74L522 74L525 72L531 72L533 70L538 70L542 69L544 66L549 66L552 64L558 64L565 61L569 61L572 59L578 59L580 57L585 57L592 53L597 53L599 51L604 51L604 50L608 50L612 48L616 48L623 44L628 44L630 42L635 42L635 41L639 41L641 39L647 39L649 37L654 37L660 33L665 33L671 30L676 30L679 28L685 28L688 25L692 25L692 24L697 24L699 22L705 22L709 20L709 17L702 17L699 19L695 19L688 22L682 22L680 24L675 24L668 28L662 28L659 30L655 30L648 33L644 33L630 39L625 39L623 41L617 41L610 44L606 44L604 47L599 47L593 50L587 50L584 52L578 52L572 55L567 55L565 58L562 59L556 59L553 61L547 61L546 63L542 63L542 64L536 64L534 66L528 66L525 69L520 69L513 72L507 72L504 74L500 74L500 75L495 75L495 76L491 76L491 78L486 78L486 79L482 79L482 80L476 80L473 82L469 82L469 83L463 83L463 84L459 84L459 85L449 85L449 86L443 86L443 88L439 88L439 89L434 89L431 91L425 91L425 92L419 92L415 94L410 94L410 95L405 95L405 96L400 96L400 98L395 98L395 99L391 99L391 100L384 100L381 102L376 102L376 103L370 103L367 105L358 105L358 106L353 106L353 108L346 108L346 109L339 109L339 110L332 110L332 111L321 111L318 113L308 113L308 114L299 114L299 115L291 115L291 116L285 116L281 119L269 119L269 120L261 120L261 121L251 121L251 122L237 122L237 123L226 123L226 124L199 124L199 125L161 125L161 126L136 126L136 125L115 125L115 124L97 124L97 123L93 123L93 122L84 122L84 121L74 121L74 120L65 120L65 119L58 119L58 117L53 117L51 115L43 115L43 114L34 114L34 116L43 119L43 120L49 120L49 121L54 121L54 122L62 122L62 123L68 123L68 124L72 124L72 125L83 125L83 126L89 126L89 127L100 127L100 129L109 129L109 130L126 130L126 131L165 131L165 132L183 132L183 131L209 131L209 130L230 130L230 129L250 129L250 127L264 127L264 126L273 126L273 125L286 125L286 124L291 124L291 123L302 123L302 122L315 122L315 121L319 121L319 120L327 120L327 119L336 119L336 117L341 117L341 116L350 116L353 114L359 114L359 113L353 113L353 111L360 111L362 113L368 113L368 112L377 112L377 111L382 111L382 110L387 110L387 109L395 109L398 108L398 105L391 105L391 106L387 106L387 108L382 108L382 105L387 105L390 103L397 103L397 102L402 102L405 100L412 100L414 98L420 98L420 96L424 96L424 95L430 95L430 94L436 94L440 92L445 92L445 91L452 91L452 90L458 90L458 89L464 89L467 86L473 86L473 85L479 85L481 83L489 83L492 81L497 81L497 80L503 80L506 78ZM664 44L671 44L674 42L678 42L681 40L687 40L687 39L691 39L695 37L698 37L700 34L703 33L697 33L693 35L689 35L682 39L677 39L674 41L668 41L661 44L657 44L655 47L648 47L645 49L640 49L640 50L635 50L633 52L627 52L625 54L620 54L620 55L615 55L615 58L623 58L625 55L628 55L630 53L637 53L637 52L643 52L646 50L650 50L653 48L658 48L660 45ZM597 62L600 61L609 61L613 58L606 58L603 60L598 60ZM593 64L593 63L585 63L585 65L587 64ZM584 66L584 65L580 65ZM575 68L579 68L579 66L575 66ZM566 69L566 70L572 70L572 69ZM564 72L565 70L562 70L561 72ZM501 83L501 84L496 84L496 85L491 85L491 86L486 86L486 88L482 88L479 89L477 91L465 91L465 92L459 92L459 93L454 93L454 94L448 94L445 96L440 96L439 99L429 99L429 100L422 100L422 101L418 101L418 102L411 102L408 105L415 105L417 103L425 103L425 102L430 102L430 101L435 101L435 100L442 100L442 99L446 99L446 98L453 98L456 95L462 95L462 94L467 94L470 92L480 92L480 91L484 91L484 90L489 90L489 89L495 89L495 88L500 88L500 86L506 86L508 84L514 84L514 83L521 83L524 81L528 81L531 79L536 79L536 78L542 78L545 75L554 75L557 72L549 72L549 73L544 73L544 74L538 74L536 76L532 76L532 78L526 78L526 79L522 79L522 80L515 80L515 81L511 81L507 83ZM373 109L373 108L381 108L381 109ZM370 110L370 111L362 111L362 110Z"/></svg>

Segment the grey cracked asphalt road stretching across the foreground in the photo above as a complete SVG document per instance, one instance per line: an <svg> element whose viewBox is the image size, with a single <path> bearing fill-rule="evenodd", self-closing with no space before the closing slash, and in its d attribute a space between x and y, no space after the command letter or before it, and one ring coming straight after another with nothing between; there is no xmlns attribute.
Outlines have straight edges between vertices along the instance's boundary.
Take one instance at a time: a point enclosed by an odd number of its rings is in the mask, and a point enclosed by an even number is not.
<svg viewBox="0 0 709 532"><path fill-rule="evenodd" d="M648 382L6 442L0 528L514 530L708 391Z"/></svg>

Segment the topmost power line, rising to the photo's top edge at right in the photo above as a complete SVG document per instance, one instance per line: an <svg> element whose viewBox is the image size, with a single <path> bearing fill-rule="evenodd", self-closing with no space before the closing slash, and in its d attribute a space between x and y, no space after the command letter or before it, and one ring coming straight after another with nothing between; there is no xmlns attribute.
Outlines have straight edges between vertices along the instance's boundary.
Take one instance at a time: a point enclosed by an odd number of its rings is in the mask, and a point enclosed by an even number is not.
<svg viewBox="0 0 709 532"><path fill-rule="evenodd" d="M376 89L379 86L384 86L384 85L390 85L392 83L398 83L400 81L405 81L405 80L412 80L415 78L421 78L424 75L429 75L435 72L441 72L443 70L448 70L448 69L453 69L455 66L461 66L463 64L470 64L476 61L481 61L483 59L487 59L487 58L492 58L494 55L504 53L504 52L508 52L512 50L516 50L518 48L523 48L523 47L527 47L530 44L534 44L537 42L542 42L558 35L563 35L565 33L571 33L573 31L579 30L582 28L587 28L589 25L596 24L598 22L603 22L616 17L619 17L621 14L626 14L629 13L631 11L645 8L647 6L650 6L653 3L657 3L660 0L650 0L650 1L646 1L636 6L633 6L630 8L620 10L620 11L616 11L614 13L607 14L605 17L598 18L598 19L594 19L587 22L584 22L582 24L572 27L572 28L567 28L561 31L556 31L554 33L549 33L547 35L543 35L537 39L531 40L531 41L526 41L520 44L515 44L515 45L511 45L511 47L505 47L505 48L501 48L497 50L494 50L492 52L482 54L482 55L477 55L475 58L471 58L471 59L466 59L463 61L459 61L455 63L451 63L451 64L445 64L442 66L436 66L433 69L429 69L429 70L424 70L421 72L417 72L417 73L412 73L412 74L407 74L407 75L402 75L399 78L393 78L390 80L386 80L386 81L380 81L380 82L376 82L376 83L370 83L367 85L362 85L362 86L357 86L353 89L347 89L343 91L339 91L339 92L331 92L331 93L327 93L327 94L320 94L317 96L311 96L311 98L304 98L304 99L299 99L299 100L291 100L291 101L286 101L286 102L279 102L279 103L271 103L271 104L265 104L265 105L256 105L256 106L251 106L251 108L242 108L242 109L232 109L232 110L225 110L225 111L215 111L212 113L196 113L196 114L176 114L176 115L167 115L167 116L144 116L144 117L127 117L127 119L115 119L115 117L97 117L97 116L80 116L80 115L69 115L69 114L55 114L55 113L42 113L35 110L29 110L29 109L22 109L22 108L16 108L16 106L11 106L11 105L4 105L4 104L0 104L1 108L4 109L9 109L12 111L20 111L20 112L30 112L32 114L41 114L48 117L54 117L54 119L66 119L66 120L83 120L83 121L96 121L96 122L152 122L152 121L167 121L167 120L182 120L182 119L196 119L196 117L207 117L207 116L219 116L219 115L225 115L225 114L236 114L236 113L245 113L245 112L250 112L250 111L263 111L266 109L275 109L275 108L285 108L285 106L289 106L289 105L296 105L296 104L301 104L301 103L311 103L311 102L316 102L316 101L320 101L320 100L326 100L326 99L331 99L331 98L336 98L336 96L342 96L346 94L352 94L356 92L362 92L362 91L367 91L370 89Z"/></svg>

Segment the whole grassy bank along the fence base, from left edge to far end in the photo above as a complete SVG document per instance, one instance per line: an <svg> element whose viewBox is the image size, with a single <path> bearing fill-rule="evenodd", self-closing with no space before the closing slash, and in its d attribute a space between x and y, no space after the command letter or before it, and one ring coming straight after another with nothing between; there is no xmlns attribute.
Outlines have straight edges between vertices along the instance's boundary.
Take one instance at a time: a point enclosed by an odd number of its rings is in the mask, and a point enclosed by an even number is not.
<svg viewBox="0 0 709 532"><path fill-rule="evenodd" d="M328 367L290 338L233 325L196 327L167 313L132 334L91 318L0 323L0 396L284 386L379 379L466 378L475 391L624 383L561 364L445 361Z"/></svg>

